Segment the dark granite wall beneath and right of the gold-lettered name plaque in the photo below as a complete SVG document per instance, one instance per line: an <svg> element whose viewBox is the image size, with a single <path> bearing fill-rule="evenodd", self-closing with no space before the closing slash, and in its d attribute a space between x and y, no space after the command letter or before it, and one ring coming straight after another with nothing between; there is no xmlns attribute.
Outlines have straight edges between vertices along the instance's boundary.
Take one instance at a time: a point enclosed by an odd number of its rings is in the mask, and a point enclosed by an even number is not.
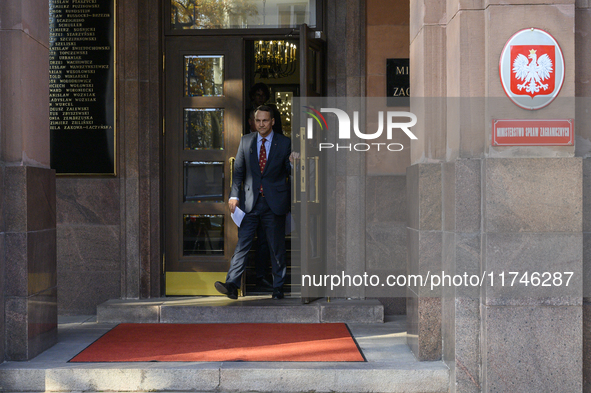
<svg viewBox="0 0 591 393"><path fill-rule="evenodd" d="M161 294L160 15L117 1L117 175L57 180L60 314Z"/></svg>

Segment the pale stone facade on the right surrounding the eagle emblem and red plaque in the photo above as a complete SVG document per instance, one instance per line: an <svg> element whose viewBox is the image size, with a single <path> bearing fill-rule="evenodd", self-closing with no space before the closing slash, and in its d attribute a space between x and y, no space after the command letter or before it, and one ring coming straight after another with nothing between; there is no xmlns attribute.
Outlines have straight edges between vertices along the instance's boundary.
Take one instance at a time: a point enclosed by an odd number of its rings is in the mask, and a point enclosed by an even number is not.
<svg viewBox="0 0 591 393"><path fill-rule="evenodd" d="M532 290L528 296L529 289L454 287L443 290L441 306L411 297L411 349L424 356L441 348L451 371L450 392L577 392L583 386L588 390L584 375L589 374L590 327L584 321L588 306L579 290L589 285L582 279L588 265L586 164L575 157L573 147L495 147L490 142L493 118L568 118L584 107L580 101L572 105L569 98L577 92L579 99L586 91L588 66L582 62L587 54L576 48L588 45L588 4L448 1L440 6L411 2L411 65L419 64L411 88L421 92L420 97L446 97L444 103L430 98L418 103L426 125L420 127L422 141L412 145L413 165L407 171L408 184L421 184L429 179L421 176L421 168L442 167L441 183L430 193L435 197L442 190L442 252L440 259L433 256L426 265L448 274L571 271L577 290L555 289L543 296ZM514 32L532 26L551 32L560 43L567 77L562 101L526 114L505 97L498 59ZM444 43L435 47L433 42L442 37ZM585 113L576 115L577 138L588 138ZM585 141L577 139L580 142ZM579 150L584 151L577 147L577 155L586 154ZM421 272L420 252L432 250L433 240L422 238L420 228L413 226L428 214L413 209L413 200L423 200L418 187L409 193L409 231L417 235L409 238L408 247L409 272ZM412 288L409 292L414 294ZM417 328L421 315L439 310L440 331ZM564 334L556 335L558 325Z"/></svg>

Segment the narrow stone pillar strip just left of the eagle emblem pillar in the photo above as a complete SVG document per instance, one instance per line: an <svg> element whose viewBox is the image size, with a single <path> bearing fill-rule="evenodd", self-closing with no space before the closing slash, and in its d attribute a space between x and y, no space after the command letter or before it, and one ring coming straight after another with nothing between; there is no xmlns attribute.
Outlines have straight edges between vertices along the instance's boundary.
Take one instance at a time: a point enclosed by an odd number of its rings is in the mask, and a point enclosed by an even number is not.
<svg viewBox="0 0 591 393"><path fill-rule="evenodd" d="M421 121L413 127L407 168L409 274L441 271L441 162L446 154L445 2L410 2L411 112ZM409 286L408 344L419 360L441 358L440 292Z"/></svg>

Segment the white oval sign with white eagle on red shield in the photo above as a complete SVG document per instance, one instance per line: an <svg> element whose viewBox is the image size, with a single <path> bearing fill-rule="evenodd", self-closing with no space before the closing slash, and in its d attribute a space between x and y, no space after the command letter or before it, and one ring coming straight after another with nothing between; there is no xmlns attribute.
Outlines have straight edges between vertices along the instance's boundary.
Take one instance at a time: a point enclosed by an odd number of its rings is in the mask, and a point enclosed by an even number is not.
<svg viewBox="0 0 591 393"><path fill-rule="evenodd" d="M564 56L558 42L544 30L523 29L505 44L499 74L511 101L523 109L541 109L560 93Z"/></svg>

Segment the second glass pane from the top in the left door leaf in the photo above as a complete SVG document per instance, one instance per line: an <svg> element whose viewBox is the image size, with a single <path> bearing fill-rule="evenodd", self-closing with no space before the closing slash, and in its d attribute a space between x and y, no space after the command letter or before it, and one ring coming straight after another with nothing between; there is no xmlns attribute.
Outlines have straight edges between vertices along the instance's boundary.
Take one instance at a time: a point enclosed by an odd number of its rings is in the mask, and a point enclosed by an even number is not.
<svg viewBox="0 0 591 393"><path fill-rule="evenodd" d="M223 111L190 110L186 113L188 149L223 149Z"/></svg>

